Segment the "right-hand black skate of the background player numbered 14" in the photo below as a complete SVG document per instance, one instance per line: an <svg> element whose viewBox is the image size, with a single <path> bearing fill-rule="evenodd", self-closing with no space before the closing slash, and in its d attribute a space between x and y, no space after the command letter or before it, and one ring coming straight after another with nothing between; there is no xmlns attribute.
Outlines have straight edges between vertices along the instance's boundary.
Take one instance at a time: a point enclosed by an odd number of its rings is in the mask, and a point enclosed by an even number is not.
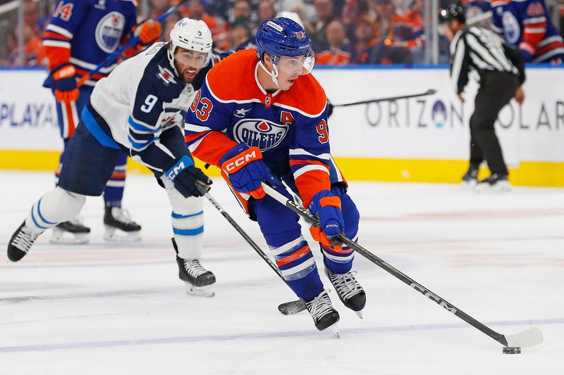
<svg viewBox="0 0 564 375"><path fill-rule="evenodd" d="M104 239L106 241L139 241L141 226L131 220L128 210L106 205L104 212Z"/></svg>

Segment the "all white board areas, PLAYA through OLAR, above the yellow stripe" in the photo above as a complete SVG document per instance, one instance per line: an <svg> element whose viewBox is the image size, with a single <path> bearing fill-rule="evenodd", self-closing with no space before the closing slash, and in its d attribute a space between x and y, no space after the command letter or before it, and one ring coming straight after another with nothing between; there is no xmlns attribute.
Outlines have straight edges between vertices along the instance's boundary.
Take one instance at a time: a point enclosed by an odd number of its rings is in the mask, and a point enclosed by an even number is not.
<svg viewBox="0 0 564 375"><path fill-rule="evenodd" d="M564 161L562 73L561 68L528 69L525 105L512 101L503 109L497 129L510 165ZM433 96L336 108L329 121L336 157L467 158L475 85L462 106L448 70L318 68L314 75L333 103L439 89ZM0 150L61 149L54 98L42 87L44 77L41 70L0 70Z"/></svg>

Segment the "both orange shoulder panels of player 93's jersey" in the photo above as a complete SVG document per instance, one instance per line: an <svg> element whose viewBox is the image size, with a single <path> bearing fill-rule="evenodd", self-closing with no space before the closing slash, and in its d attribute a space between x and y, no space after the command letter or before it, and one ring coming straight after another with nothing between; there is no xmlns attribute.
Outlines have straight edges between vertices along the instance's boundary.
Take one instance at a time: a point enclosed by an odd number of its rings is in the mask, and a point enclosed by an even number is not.
<svg viewBox="0 0 564 375"><path fill-rule="evenodd" d="M247 102L261 99L264 94L255 78L256 49L237 51L219 62L207 75L212 94L224 102ZM326 105L325 91L313 77L304 75L295 81L288 91L282 91L274 105L295 108L308 115L319 115Z"/></svg>

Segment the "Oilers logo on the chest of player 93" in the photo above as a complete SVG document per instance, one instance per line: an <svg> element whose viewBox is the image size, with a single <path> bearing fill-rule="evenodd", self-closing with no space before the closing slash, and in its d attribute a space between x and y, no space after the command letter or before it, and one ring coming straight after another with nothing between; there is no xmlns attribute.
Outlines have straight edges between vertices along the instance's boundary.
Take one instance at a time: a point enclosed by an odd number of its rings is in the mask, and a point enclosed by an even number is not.
<svg viewBox="0 0 564 375"><path fill-rule="evenodd" d="M235 141L243 142L249 147L257 146L261 151L278 146L286 134L288 125L255 118L240 120L233 127Z"/></svg>

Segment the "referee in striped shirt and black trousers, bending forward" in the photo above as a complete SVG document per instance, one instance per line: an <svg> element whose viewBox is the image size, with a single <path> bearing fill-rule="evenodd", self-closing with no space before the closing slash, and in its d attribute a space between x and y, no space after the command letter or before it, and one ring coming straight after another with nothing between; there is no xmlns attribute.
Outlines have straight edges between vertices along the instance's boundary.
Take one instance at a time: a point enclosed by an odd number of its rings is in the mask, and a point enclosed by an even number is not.
<svg viewBox="0 0 564 375"><path fill-rule="evenodd" d="M521 87L525 82L525 62L519 51L503 44L493 32L484 27L467 26L460 4L441 9L439 24L450 41L453 64L450 77L462 103L465 101L462 91L469 77L479 77L474 113L470 117L470 167L462 183L477 184L479 190L507 191L510 189L508 170L494 122L511 98L519 104L525 100ZM491 174L478 182L478 167L484 159Z"/></svg>

